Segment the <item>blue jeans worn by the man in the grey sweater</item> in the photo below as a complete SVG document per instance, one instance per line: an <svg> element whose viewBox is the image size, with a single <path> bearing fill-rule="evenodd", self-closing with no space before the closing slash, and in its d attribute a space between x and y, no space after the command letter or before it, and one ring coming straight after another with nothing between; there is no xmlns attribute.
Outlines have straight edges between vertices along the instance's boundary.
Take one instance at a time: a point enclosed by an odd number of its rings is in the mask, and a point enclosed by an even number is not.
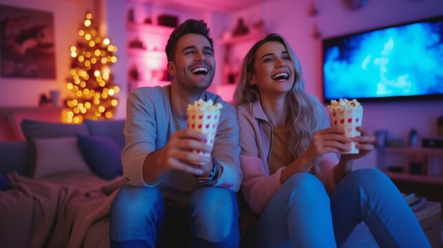
<svg viewBox="0 0 443 248"><path fill-rule="evenodd" d="M229 189L203 187L187 209L167 206L157 187L123 186L111 207L111 247L238 247L238 203Z"/></svg>

